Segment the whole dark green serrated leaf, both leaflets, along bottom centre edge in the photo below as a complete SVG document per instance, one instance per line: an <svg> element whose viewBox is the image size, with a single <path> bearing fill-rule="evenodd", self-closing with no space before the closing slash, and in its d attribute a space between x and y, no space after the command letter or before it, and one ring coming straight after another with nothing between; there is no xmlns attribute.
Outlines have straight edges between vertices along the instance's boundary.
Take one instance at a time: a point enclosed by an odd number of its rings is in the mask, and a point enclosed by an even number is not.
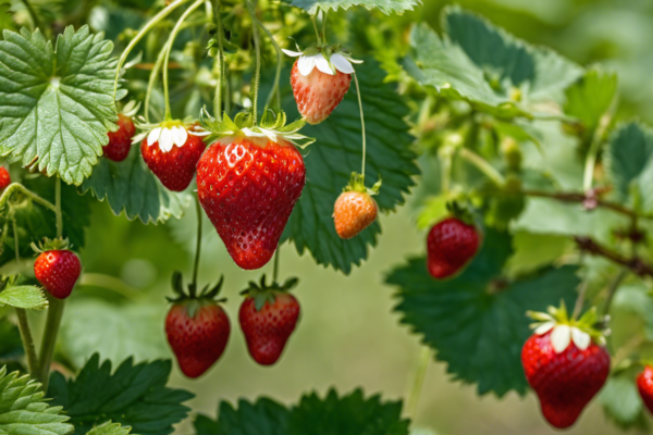
<svg viewBox="0 0 653 435"><path fill-rule="evenodd" d="M401 401L365 398L357 389L346 396L330 390L321 399L310 394L289 410L270 399L254 405L238 401L238 409L220 403L217 421L199 415L197 435L408 435Z"/></svg>

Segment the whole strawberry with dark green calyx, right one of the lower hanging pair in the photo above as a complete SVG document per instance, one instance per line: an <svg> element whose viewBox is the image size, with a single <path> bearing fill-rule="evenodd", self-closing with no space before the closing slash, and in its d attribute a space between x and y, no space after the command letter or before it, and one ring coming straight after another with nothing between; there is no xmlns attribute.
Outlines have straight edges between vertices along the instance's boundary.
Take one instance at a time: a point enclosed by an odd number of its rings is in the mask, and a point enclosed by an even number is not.
<svg viewBox="0 0 653 435"><path fill-rule="evenodd" d="M261 365L274 364L299 319L299 302L288 290L297 284L296 278L282 286L266 285L263 276L259 285L250 283L245 290L238 319L247 341L249 355Z"/></svg>

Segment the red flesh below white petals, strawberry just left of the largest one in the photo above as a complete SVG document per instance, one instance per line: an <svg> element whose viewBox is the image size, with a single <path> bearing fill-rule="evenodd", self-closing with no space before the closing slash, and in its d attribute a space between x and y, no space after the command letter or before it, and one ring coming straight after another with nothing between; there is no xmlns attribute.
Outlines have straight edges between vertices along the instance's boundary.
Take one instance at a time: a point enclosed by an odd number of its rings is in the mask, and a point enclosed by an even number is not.
<svg viewBox="0 0 653 435"><path fill-rule="evenodd" d="M170 151L163 152L158 141L148 146L146 137L140 142L140 153L147 167L163 186L172 191L182 191L193 182L197 161L206 147L200 137L188 134L182 147L173 146Z"/></svg>

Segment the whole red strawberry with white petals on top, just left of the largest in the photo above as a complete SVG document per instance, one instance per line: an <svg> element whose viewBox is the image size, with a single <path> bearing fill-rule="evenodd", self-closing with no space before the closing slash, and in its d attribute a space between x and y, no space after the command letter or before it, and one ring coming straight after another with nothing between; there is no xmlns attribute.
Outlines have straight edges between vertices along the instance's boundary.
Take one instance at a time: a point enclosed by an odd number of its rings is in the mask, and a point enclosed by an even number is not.
<svg viewBox="0 0 653 435"><path fill-rule="evenodd" d="M153 128L140 144L140 153L147 166L173 191L182 191L193 182L195 167L206 145L189 128L176 122Z"/></svg>

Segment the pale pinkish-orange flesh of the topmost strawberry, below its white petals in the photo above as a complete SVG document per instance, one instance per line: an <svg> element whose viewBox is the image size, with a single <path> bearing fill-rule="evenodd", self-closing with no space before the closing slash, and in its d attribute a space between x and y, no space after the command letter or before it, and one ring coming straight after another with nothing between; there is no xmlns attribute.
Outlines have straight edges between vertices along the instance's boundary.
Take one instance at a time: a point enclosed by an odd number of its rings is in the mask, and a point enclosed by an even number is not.
<svg viewBox="0 0 653 435"><path fill-rule="evenodd" d="M335 75L324 74L315 67L307 76L299 73L297 62L291 72L291 85L299 113L309 124L319 124L345 98L352 75L336 70Z"/></svg>

